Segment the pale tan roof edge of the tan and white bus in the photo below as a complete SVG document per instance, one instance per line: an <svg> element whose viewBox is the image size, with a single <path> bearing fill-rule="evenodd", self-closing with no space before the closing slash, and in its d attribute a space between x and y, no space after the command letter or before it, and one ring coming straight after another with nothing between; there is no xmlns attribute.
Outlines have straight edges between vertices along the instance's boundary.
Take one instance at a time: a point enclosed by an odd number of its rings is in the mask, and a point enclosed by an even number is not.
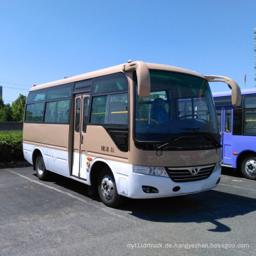
<svg viewBox="0 0 256 256"><path fill-rule="evenodd" d="M31 87L30 91L39 90L39 89L43 89L46 87L52 87L52 86L56 86L56 85L64 85L64 84L68 84L70 82L77 82L77 81L86 80L86 79L90 79L90 78L96 78L96 77L100 77L102 75L110 75L112 73L123 72L122 66L125 64L127 64L127 63L121 64L121 65L116 65L116 66L113 66L110 68L104 68L101 70L92 71L90 73L85 73L82 75L75 75L70 78L65 78L65 79L56 80L53 82L47 82L47 83L44 83L41 85L36 85L36 86ZM173 72L177 72L177 73L186 73L188 75L196 75L198 77L204 78L203 75L196 73L195 71L186 70L184 68L178 68L178 67L174 67L171 65L162 65L162 64L154 64L154 63L146 63L146 65L149 69L166 70L166 71L173 71Z"/></svg>

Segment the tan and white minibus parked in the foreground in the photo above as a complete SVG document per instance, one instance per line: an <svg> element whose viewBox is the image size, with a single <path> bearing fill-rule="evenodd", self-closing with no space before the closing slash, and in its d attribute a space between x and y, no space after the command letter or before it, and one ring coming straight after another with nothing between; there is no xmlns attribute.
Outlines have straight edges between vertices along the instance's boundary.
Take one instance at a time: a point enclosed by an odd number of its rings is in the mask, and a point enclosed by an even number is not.
<svg viewBox="0 0 256 256"><path fill-rule="evenodd" d="M23 154L39 179L50 171L87 184L106 206L214 188L220 140L208 81L169 65L128 62L32 87Z"/></svg>

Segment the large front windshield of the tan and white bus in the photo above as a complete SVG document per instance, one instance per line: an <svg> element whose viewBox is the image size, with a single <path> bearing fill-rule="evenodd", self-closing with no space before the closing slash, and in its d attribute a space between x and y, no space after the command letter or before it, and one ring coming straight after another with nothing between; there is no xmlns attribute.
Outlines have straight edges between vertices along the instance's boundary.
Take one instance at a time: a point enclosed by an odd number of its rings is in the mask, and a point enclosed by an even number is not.
<svg viewBox="0 0 256 256"><path fill-rule="evenodd" d="M135 96L137 145L218 146L215 107L205 79L160 70L150 70L150 79L149 97Z"/></svg>

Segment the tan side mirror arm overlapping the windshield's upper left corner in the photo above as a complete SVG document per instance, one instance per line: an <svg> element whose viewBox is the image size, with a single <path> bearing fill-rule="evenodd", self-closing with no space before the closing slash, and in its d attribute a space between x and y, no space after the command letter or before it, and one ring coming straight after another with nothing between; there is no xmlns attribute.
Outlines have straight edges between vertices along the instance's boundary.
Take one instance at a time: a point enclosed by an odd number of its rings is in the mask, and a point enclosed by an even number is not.
<svg viewBox="0 0 256 256"><path fill-rule="evenodd" d="M124 71L137 71L137 82L138 82L138 95L139 97L149 97L150 95L150 74L149 68L143 61L134 61L132 63L127 63L122 66Z"/></svg>

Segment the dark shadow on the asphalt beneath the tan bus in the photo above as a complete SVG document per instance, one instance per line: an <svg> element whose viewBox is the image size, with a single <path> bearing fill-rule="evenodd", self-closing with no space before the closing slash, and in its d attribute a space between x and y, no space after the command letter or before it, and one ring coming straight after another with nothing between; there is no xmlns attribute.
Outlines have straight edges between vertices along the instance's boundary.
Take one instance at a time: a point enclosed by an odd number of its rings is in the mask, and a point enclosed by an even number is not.
<svg viewBox="0 0 256 256"><path fill-rule="evenodd" d="M81 196L100 202L98 196L89 196L87 186L78 181L52 174L48 182L79 193ZM102 204L102 208L105 207ZM204 223L210 222L215 228L208 231L221 233L230 227L220 222L224 218L245 215L256 210L256 199L210 190L188 196L156 199L126 198L124 204L114 211L125 211L130 215L160 223Z"/></svg>

